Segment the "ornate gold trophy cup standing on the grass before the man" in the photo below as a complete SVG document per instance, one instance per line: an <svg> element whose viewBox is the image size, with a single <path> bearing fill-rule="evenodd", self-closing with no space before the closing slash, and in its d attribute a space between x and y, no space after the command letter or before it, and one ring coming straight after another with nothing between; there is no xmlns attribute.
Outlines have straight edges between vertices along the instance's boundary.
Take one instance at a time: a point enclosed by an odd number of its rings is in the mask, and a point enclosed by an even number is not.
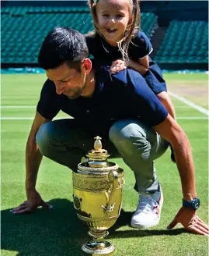
<svg viewBox="0 0 209 256"><path fill-rule="evenodd" d="M72 173L73 204L78 218L89 226L92 240L82 245L82 251L92 255L113 255L115 247L104 240L107 229L117 221L122 207L124 170L107 162L107 151L97 136L94 149Z"/></svg>

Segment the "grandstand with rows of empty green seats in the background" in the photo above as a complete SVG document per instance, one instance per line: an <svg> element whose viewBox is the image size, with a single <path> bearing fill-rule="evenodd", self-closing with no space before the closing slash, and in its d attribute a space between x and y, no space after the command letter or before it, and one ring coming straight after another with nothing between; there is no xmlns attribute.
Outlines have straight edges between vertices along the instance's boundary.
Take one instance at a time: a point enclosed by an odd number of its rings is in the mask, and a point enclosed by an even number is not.
<svg viewBox="0 0 209 256"><path fill-rule="evenodd" d="M93 29L86 1L2 1L2 68L38 66L37 54L54 27ZM208 2L142 1L141 30L162 69L208 70Z"/></svg>

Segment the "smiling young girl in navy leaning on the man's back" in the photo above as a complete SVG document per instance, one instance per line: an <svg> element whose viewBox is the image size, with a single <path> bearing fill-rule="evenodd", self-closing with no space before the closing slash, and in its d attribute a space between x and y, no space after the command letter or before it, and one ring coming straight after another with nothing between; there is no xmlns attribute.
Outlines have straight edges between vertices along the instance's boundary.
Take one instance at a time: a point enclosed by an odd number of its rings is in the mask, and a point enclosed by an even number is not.
<svg viewBox="0 0 209 256"><path fill-rule="evenodd" d="M141 73L169 114L176 119L161 69L148 56L152 52L152 44L139 31L138 0L88 0L88 3L95 27L95 31L86 36L89 54L97 60L111 62L110 73L127 67Z"/></svg>

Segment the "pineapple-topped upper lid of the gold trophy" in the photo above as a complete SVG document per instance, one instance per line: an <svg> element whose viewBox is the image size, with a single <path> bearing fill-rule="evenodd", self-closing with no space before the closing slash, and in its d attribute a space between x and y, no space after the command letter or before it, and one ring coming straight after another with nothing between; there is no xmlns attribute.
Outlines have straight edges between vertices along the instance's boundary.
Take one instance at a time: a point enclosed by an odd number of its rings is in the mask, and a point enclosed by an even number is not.
<svg viewBox="0 0 209 256"><path fill-rule="evenodd" d="M86 155L90 161L106 161L106 159L110 156L106 149L102 147L102 138L99 136L95 137L94 149L90 150Z"/></svg>

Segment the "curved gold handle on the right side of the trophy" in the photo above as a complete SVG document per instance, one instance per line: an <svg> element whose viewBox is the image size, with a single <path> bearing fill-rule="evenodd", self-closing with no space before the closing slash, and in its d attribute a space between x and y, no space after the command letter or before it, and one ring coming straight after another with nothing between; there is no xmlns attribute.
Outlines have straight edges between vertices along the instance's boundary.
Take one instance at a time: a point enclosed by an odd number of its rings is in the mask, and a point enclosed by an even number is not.
<svg viewBox="0 0 209 256"><path fill-rule="evenodd" d="M113 212L113 208L115 207L115 203L112 203L112 201L113 201L113 197L116 192L117 184L118 184L117 171L111 170L109 172L108 178L109 178L110 183L113 184L113 188L112 188L110 195L108 194L108 192L106 192L106 199L107 199L106 206L102 205L102 208L103 208L106 216L108 216L110 214L110 212Z"/></svg>

